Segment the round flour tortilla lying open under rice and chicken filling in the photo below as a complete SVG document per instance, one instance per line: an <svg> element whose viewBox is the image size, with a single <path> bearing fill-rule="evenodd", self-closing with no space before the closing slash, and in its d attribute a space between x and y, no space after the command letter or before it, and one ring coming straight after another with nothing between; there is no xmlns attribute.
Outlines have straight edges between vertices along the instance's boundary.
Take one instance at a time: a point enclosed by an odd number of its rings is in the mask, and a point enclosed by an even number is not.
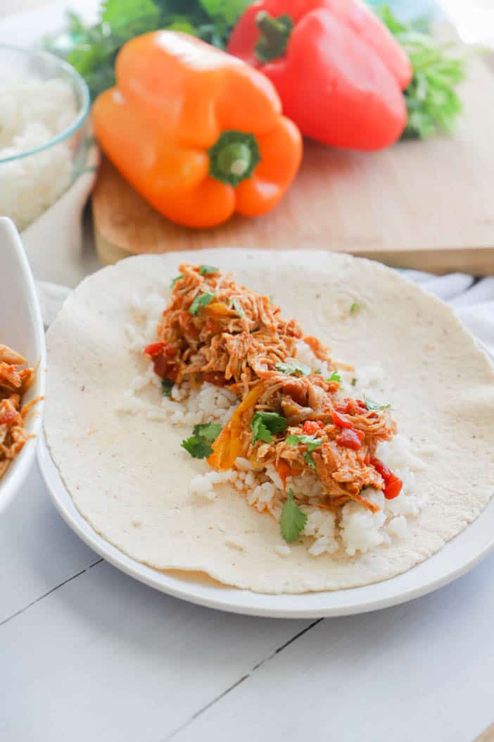
<svg viewBox="0 0 494 742"><path fill-rule="evenodd" d="M178 263L211 263L273 295L285 317L357 368L384 371L401 433L434 453L416 473L429 501L405 539L348 557L275 550L279 525L230 485L189 494L207 471L181 449L184 428L117 413L145 361L130 353L130 296L161 291ZM349 315L353 302L364 306ZM125 554L159 570L201 571L228 585L300 593L367 585L438 551L485 507L494 482L494 374L444 303L398 273L348 255L217 249L131 257L81 283L47 334L47 444L80 513ZM235 542L243 549L233 546Z"/></svg>

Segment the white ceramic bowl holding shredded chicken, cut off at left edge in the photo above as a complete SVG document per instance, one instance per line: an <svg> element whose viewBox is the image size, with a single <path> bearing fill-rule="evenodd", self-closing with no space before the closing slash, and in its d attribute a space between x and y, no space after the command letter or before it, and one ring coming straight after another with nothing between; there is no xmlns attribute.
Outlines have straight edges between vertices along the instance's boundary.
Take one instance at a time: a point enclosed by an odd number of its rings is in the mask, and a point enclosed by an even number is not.
<svg viewBox="0 0 494 742"><path fill-rule="evenodd" d="M38 367L24 402L44 395L46 350L36 288L19 234L7 217L0 217L0 343L9 345ZM35 436L25 444L0 479L0 510L16 493L33 463L41 429L43 401L27 417L27 432Z"/></svg>

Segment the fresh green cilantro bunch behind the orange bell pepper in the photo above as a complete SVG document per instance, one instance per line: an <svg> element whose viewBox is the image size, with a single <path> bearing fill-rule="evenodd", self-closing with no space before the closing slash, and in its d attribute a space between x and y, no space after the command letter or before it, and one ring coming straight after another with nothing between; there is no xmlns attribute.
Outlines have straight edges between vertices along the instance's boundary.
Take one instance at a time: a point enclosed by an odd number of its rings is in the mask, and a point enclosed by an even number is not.
<svg viewBox="0 0 494 742"><path fill-rule="evenodd" d="M70 50L60 37L47 39L45 46L81 73L94 98L115 84L115 59L129 39L170 28L224 49L247 4L248 0L105 0L95 25L69 13Z"/></svg>

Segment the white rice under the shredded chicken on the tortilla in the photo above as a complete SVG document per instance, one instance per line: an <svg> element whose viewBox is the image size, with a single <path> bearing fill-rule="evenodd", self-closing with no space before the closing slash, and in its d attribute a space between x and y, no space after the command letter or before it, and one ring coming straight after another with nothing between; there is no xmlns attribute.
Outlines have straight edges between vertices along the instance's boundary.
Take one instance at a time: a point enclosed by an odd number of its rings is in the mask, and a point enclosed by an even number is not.
<svg viewBox="0 0 494 742"><path fill-rule="evenodd" d="M167 292L151 294L145 298L133 297L133 324L126 327L129 349L142 356L144 347L156 338L156 326L161 320L161 313L167 301ZM327 364L321 364L307 344L297 345L297 355L301 362L313 370L320 369L322 375L329 375ZM143 358L143 366L146 363ZM382 380L378 367L365 367L355 372L341 372L345 391L371 392L372 387ZM356 378L355 384L352 379ZM156 390L158 387L158 393ZM156 421L166 421L173 425L186 427L188 430L205 422L227 423L233 414L238 399L223 387L204 383L200 390L191 390L187 384L174 386L170 398L161 394L161 379L153 371L152 364L133 378L130 388L120 406L121 413L144 413ZM420 451L427 455L427 445ZM407 536L407 519L418 516L427 502L427 496L415 493L414 471L421 470L425 464L413 452L410 441L404 436L394 436L392 441L379 444L378 457L389 466L403 482L401 493L393 500L384 498L380 490L368 487L364 496L370 499L379 510L371 513L358 502L347 502L336 514L318 508L321 487L316 476L304 471L298 476L287 478L287 488L295 493L303 493L310 501L301 509L307 513L307 524L303 536L309 553L313 557L320 554L345 552L353 557L357 552L366 554L378 546L389 545L392 540L399 541ZM184 452L184 456L187 454ZM260 513L270 513L276 520L281 518L285 493L283 484L273 464L267 464L262 473L253 470L247 459L236 459L235 469L227 472L208 470L194 476L190 481L190 493L206 500L221 496L216 487L230 483ZM276 545L275 551L280 557L290 554L290 546L284 543Z"/></svg>

